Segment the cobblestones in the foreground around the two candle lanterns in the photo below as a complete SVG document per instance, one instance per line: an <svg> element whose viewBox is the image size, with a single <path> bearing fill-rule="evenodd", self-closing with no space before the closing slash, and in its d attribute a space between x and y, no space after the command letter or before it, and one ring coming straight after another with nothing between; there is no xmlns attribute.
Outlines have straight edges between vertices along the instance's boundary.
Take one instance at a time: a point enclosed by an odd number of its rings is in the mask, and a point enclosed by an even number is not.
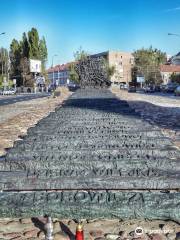
<svg viewBox="0 0 180 240"><path fill-rule="evenodd" d="M179 240L180 226L171 221L83 220L85 240ZM0 239L45 239L43 217L0 219ZM76 220L53 219L54 240L74 240ZM138 235L137 229L143 234Z"/></svg>

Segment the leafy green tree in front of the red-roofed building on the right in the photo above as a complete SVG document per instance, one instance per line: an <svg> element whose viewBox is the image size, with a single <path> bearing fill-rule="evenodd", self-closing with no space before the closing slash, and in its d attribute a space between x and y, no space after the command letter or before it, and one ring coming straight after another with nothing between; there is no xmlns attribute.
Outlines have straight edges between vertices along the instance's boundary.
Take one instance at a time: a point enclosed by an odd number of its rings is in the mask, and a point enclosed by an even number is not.
<svg viewBox="0 0 180 240"><path fill-rule="evenodd" d="M139 49L133 55L136 73L143 75L147 84L159 85L162 82L159 66L166 62L166 54L150 47Z"/></svg>

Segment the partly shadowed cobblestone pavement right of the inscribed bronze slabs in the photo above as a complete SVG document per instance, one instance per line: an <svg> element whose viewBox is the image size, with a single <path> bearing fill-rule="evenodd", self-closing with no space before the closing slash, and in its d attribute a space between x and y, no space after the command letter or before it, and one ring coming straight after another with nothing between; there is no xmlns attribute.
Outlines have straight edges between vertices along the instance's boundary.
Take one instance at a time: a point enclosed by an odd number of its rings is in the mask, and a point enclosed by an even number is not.
<svg viewBox="0 0 180 240"><path fill-rule="evenodd" d="M160 126L162 132L170 137L177 147L180 147L180 97L128 93L117 87L111 90L120 99L127 100L143 119Z"/></svg>

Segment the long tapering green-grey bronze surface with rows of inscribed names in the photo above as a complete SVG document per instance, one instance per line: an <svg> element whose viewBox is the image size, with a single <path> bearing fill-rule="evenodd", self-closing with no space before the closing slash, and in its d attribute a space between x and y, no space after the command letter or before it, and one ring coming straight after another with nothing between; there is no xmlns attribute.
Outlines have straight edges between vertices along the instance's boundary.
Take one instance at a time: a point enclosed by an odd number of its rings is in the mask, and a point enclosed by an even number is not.
<svg viewBox="0 0 180 240"><path fill-rule="evenodd" d="M109 90L78 90L0 160L0 216L178 221L179 158Z"/></svg>

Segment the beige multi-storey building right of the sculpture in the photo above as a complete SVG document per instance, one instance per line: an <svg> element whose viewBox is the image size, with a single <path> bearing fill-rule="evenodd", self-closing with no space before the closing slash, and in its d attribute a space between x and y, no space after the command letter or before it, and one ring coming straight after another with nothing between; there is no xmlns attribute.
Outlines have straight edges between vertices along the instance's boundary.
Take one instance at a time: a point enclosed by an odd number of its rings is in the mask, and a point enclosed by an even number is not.
<svg viewBox="0 0 180 240"><path fill-rule="evenodd" d="M134 57L131 53L120 51L107 51L91 55L92 57L104 57L110 66L115 67L115 74L111 77L114 84L129 83L132 81L132 67Z"/></svg>

